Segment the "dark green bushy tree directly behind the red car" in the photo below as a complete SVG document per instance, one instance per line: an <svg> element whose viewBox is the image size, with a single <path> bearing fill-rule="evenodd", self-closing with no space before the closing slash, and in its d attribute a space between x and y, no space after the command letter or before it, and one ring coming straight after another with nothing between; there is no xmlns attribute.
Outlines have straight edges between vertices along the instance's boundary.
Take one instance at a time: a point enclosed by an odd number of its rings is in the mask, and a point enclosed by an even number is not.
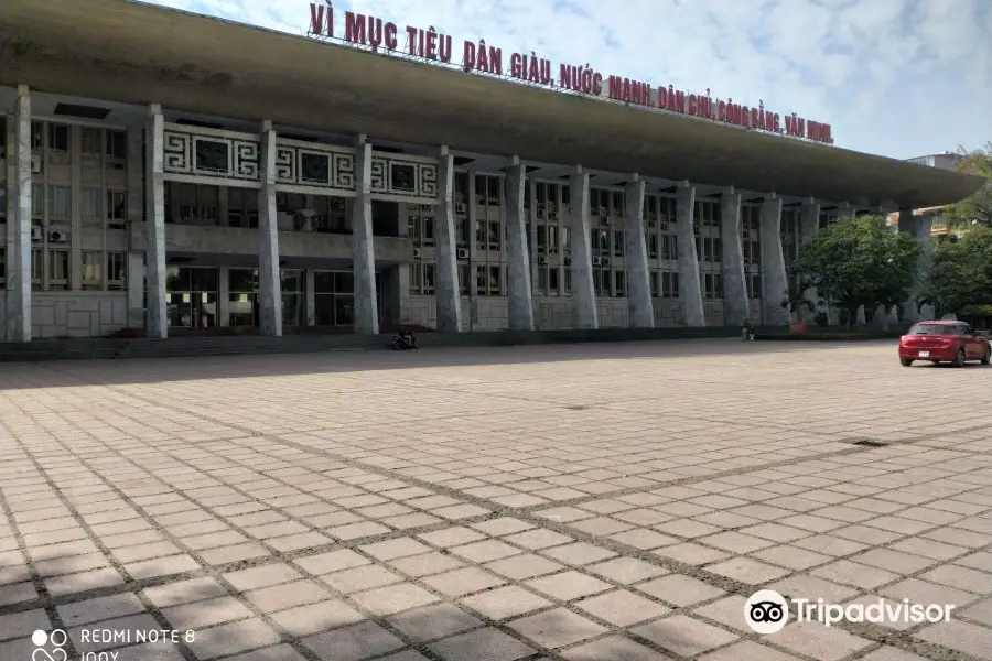
<svg viewBox="0 0 992 661"><path fill-rule="evenodd" d="M973 227L958 241L939 243L930 253L919 304L937 316L992 303L992 228Z"/></svg>

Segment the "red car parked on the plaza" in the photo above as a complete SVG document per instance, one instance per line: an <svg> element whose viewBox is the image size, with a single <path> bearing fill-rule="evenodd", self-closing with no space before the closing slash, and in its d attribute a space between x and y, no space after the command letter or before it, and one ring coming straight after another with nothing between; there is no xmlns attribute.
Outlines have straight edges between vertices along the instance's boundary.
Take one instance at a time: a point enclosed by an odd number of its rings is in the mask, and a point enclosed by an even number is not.
<svg viewBox="0 0 992 661"><path fill-rule="evenodd" d="M966 360L992 361L989 338L979 335L964 322L921 322L914 324L899 338L899 362L909 367L914 360L950 362L964 367Z"/></svg>

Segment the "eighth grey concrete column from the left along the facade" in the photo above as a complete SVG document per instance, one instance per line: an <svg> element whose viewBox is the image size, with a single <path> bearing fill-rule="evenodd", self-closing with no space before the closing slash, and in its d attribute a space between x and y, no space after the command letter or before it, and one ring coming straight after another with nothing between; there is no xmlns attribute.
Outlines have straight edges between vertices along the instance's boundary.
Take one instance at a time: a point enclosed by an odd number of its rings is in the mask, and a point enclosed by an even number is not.
<svg viewBox="0 0 992 661"><path fill-rule="evenodd" d="M627 266L627 325L654 328L651 277L644 242L644 182L635 174L624 189L624 254Z"/></svg>

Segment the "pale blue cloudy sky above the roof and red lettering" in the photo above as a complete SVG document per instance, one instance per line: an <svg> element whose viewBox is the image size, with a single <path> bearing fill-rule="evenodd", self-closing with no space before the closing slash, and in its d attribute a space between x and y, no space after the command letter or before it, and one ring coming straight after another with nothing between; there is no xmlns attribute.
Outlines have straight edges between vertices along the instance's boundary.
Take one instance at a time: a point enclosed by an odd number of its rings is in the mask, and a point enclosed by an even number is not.
<svg viewBox="0 0 992 661"><path fill-rule="evenodd" d="M323 3L325 0L317 0ZM304 34L310 0L153 0ZM558 65L732 97L908 159L992 141L992 0L335 0ZM401 41L402 43L402 41Z"/></svg>

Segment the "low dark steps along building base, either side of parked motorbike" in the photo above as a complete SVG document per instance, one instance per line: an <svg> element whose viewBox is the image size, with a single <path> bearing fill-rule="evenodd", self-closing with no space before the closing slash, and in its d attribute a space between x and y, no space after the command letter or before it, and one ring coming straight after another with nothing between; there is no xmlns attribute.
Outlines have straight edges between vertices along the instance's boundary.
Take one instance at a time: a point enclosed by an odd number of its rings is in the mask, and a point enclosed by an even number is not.
<svg viewBox="0 0 992 661"><path fill-rule="evenodd" d="M736 337L738 328L602 328L599 330L497 330L488 333L423 333L423 348L644 342ZM284 337L174 337L170 339L39 339L0 344L0 362L168 358L250 354L295 354L342 350L386 350L391 335L290 335Z"/></svg>

